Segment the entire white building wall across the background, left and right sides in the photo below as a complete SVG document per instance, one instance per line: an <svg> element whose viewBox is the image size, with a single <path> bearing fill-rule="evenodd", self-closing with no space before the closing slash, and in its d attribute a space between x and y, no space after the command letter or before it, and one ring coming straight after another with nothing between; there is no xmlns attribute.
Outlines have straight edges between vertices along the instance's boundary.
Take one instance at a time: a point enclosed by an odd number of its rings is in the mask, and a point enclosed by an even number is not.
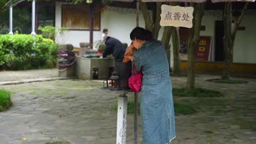
<svg viewBox="0 0 256 144"><path fill-rule="evenodd" d="M61 27L61 4L56 2L55 26ZM206 26L205 31L201 31L200 35L211 36L211 61L214 61L214 27L215 21L221 18L212 15L205 15L202 18L202 25ZM119 39L122 43L130 44L130 32L136 26L135 13L118 13L117 11L105 10L101 15L101 31L94 31L94 41L101 39L103 28L108 28L109 36ZM144 27L145 22L142 14L139 15L139 26ZM241 26L245 26L245 31L237 31L233 60L236 63L256 63L256 16L245 16L241 22ZM164 27L160 29L160 40ZM89 42L89 31L69 31L66 44L73 44L79 47L81 42ZM170 40L172 45L172 40ZM173 50L171 46L171 67L173 67Z"/></svg>

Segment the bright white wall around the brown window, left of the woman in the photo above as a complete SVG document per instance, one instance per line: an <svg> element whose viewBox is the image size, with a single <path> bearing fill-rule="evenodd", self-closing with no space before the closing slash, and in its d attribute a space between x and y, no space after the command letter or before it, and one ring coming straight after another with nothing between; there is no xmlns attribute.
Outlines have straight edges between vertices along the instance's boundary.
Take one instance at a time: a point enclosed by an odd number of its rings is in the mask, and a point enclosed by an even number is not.
<svg viewBox="0 0 256 144"><path fill-rule="evenodd" d="M55 26L61 27L61 2L56 2ZM143 16L139 16L139 26L144 27ZM94 41L101 40L104 28L108 29L108 35L119 39L122 43L130 44L130 32L136 27L136 14L121 14L115 11L105 10L101 15L101 31L94 31ZM69 31L65 44L73 44L80 47L79 43L90 41L90 31Z"/></svg>

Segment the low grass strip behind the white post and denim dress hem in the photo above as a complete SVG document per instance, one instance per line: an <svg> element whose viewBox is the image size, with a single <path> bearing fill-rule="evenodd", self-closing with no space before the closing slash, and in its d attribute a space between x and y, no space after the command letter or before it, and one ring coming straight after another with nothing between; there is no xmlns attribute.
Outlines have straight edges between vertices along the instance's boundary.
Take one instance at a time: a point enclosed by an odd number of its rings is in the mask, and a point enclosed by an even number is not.
<svg viewBox="0 0 256 144"><path fill-rule="evenodd" d="M140 104L138 103L138 114L141 114L140 110ZM115 105L114 109L117 111L118 105ZM175 114L192 114L195 113L196 109L193 106L184 105L184 104L174 104L174 113ZM133 101L129 101L127 103L127 114L133 114L134 113L134 103Z"/></svg>

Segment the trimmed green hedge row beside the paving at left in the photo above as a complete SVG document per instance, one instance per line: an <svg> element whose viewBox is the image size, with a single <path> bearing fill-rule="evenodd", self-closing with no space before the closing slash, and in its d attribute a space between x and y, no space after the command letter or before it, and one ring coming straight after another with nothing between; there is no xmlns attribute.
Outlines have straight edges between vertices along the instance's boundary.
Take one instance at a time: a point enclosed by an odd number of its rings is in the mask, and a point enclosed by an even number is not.
<svg viewBox="0 0 256 144"><path fill-rule="evenodd" d="M0 35L0 69L26 70L56 67L58 45L42 35Z"/></svg>

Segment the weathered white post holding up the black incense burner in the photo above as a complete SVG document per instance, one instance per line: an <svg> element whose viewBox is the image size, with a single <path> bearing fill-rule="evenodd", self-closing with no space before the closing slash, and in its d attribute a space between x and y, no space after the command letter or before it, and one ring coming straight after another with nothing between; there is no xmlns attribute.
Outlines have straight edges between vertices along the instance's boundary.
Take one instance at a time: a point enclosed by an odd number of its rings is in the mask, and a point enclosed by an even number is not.
<svg viewBox="0 0 256 144"><path fill-rule="evenodd" d="M117 144L126 143L126 117L127 96L124 93L118 97Z"/></svg>

